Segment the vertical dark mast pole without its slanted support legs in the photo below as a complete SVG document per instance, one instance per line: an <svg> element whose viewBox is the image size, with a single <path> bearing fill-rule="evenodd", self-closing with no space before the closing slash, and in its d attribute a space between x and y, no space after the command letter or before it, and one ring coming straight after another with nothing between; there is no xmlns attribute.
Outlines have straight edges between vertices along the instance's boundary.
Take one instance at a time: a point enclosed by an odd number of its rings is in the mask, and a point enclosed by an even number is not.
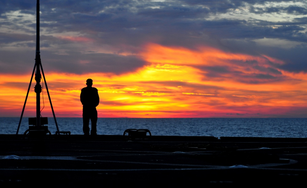
<svg viewBox="0 0 307 188"><path fill-rule="evenodd" d="M39 0L36 2L36 55L35 55L35 64L36 64L36 72L35 72L35 81L36 85L34 87L34 91L36 92L36 126L41 126L41 96L40 93L42 91L40 82L41 82L41 55L39 49Z"/></svg>

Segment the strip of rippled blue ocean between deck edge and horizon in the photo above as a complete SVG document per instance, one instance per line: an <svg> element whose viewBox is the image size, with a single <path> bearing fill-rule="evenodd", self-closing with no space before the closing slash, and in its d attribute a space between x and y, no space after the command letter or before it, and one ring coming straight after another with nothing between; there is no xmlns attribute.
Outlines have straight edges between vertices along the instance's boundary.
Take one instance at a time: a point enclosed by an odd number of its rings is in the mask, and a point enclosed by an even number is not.
<svg viewBox="0 0 307 188"><path fill-rule="evenodd" d="M0 118L0 134L16 134L20 118ZM82 118L56 118L59 131L83 134ZM91 124L90 124L91 125ZM53 117L48 130L56 133ZM29 129L22 118L18 134ZM159 136L307 137L307 118L98 118L97 134L123 135L126 129L148 129Z"/></svg>

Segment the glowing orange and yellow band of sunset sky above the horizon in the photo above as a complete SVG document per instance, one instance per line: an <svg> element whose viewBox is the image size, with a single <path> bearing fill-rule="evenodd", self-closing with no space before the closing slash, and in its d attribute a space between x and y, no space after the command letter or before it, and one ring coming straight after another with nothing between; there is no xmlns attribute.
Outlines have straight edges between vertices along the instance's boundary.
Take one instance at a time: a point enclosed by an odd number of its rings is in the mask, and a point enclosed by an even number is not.
<svg viewBox="0 0 307 188"><path fill-rule="evenodd" d="M278 59L152 43L139 55L147 64L121 75L45 73L55 115L82 117L80 91L91 78L99 90L99 117L306 117L301 110L307 107L306 74L278 69L283 63ZM1 114L18 117L30 75L2 74L0 78ZM51 117L43 81L41 114ZM24 117L35 116L34 86L33 79Z"/></svg>

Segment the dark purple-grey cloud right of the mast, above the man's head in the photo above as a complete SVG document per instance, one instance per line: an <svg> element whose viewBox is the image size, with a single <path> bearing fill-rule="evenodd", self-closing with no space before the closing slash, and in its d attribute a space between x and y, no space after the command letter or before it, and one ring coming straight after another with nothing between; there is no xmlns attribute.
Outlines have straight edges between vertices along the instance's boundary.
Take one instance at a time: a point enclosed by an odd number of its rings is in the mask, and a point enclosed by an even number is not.
<svg viewBox="0 0 307 188"><path fill-rule="evenodd" d="M74 51L67 55L44 54L46 60L42 62L49 71L60 70L67 73L114 73L133 72L144 66L146 62L137 56L116 54L78 54Z"/></svg>

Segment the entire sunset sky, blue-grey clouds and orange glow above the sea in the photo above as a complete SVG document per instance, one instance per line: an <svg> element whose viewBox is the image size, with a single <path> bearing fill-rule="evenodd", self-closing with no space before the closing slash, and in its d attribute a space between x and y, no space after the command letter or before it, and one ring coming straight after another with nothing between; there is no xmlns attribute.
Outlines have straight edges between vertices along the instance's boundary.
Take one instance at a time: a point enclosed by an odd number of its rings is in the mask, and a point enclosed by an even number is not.
<svg viewBox="0 0 307 188"><path fill-rule="evenodd" d="M91 78L100 118L307 118L306 31L306 0L40 0L56 117L82 117ZM0 117L21 116L35 47L36 0L1 0Z"/></svg>

